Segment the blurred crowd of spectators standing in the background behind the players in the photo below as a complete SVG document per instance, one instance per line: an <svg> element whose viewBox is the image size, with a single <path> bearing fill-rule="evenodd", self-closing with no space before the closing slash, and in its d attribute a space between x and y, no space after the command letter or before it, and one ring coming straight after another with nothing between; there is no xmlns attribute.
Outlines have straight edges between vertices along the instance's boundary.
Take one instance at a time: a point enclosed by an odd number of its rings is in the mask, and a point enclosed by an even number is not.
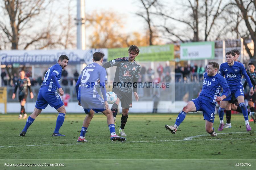
<svg viewBox="0 0 256 170"><path fill-rule="evenodd" d="M175 66L175 81L176 82L200 82L205 73L203 65L198 66L196 63L191 66L190 64L181 66L179 63ZM46 71L44 72L44 75ZM26 77L30 78L31 86L40 86L44 80L43 75L37 78L31 78L31 72L26 71ZM65 69L61 73L61 84L63 86L74 86L78 80L79 72L75 71L71 76ZM145 67L141 65L139 82L171 82L171 68L169 65L158 64L156 69ZM17 73L9 76L5 69L1 73L2 86L14 86L18 80Z"/></svg>

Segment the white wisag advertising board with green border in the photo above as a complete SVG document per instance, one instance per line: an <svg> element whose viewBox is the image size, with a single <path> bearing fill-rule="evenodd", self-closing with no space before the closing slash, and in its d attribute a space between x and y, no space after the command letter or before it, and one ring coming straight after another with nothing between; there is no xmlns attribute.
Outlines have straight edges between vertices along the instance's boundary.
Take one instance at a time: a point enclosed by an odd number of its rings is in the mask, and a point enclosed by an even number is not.
<svg viewBox="0 0 256 170"><path fill-rule="evenodd" d="M189 42L180 46L181 60L214 58L214 42Z"/></svg>

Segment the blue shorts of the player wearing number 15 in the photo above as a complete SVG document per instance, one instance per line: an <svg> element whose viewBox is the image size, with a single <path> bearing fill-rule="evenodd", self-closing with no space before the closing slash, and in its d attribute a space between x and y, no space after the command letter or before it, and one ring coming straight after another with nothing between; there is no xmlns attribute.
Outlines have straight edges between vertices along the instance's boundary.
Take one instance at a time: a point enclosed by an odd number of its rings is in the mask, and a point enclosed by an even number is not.
<svg viewBox="0 0 256 170"><path fill-rule="evenodd" d="M105 104L102 97L97 95L96 97L83 97L79 96L78 100L82 107L84 108L84 112L86 114L90 113L90 110L92 109L94 112L103 112L105 111Z"/></svg>

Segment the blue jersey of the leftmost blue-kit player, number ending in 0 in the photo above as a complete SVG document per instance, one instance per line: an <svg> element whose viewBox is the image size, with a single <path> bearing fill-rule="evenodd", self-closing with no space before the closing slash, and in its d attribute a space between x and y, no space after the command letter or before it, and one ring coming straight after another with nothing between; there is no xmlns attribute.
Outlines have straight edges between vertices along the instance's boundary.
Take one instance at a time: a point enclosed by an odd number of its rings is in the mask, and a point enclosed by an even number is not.
<svg viewBox="0 0 256 170"><path fill-rule="evenodd" d="M47 71L44 76L44 81L41 85L40 90L45 90L45 91L56 91L57 88L60 88L59 84L55 84L51 78L52 74L56 76L58 82L61 79L61 71L62 67L57 63L53 66L51 66Z"/></svg>

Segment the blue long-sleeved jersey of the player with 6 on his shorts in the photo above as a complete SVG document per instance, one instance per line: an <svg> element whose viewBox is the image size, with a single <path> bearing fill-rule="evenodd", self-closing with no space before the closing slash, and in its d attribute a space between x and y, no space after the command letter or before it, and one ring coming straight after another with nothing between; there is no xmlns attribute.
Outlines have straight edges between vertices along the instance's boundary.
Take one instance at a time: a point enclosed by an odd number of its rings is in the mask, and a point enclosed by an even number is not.
<svg viewBox="0 0 256 170"><path fill-rule="evenodd" d="M215 99L216 96L220 96L221 88L223 88L222 95L228 97L230 95L230 89L225 78L220 74L208 76L207 73L205 73L202 91L198 98L202 98L211 103L216 103Z"/></svg>

